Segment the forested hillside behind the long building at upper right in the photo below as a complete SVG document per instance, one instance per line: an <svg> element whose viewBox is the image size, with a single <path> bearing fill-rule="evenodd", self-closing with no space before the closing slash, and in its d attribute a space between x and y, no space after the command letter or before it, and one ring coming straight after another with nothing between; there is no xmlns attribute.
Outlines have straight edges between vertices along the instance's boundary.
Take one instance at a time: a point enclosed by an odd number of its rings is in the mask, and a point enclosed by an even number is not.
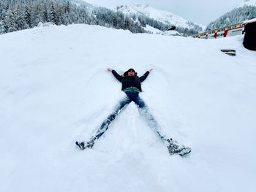
<svg viewBox="0 0 256 192"><path fill-rule="evenodd" d="M206 31L213 28L233 25L252 18L256 18L256 1L246 0L244 1L244 4L241 4L241 6L236 7L232 11L227 12L221 17L217 18L217 20L214 20L214 22L208 24Z"/></svg>

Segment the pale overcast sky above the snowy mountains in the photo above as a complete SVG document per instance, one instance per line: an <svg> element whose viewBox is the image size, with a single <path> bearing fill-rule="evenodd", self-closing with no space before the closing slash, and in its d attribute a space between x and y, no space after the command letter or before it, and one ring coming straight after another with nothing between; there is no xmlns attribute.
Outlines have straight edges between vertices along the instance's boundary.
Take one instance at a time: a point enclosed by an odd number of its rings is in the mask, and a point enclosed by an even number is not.
<svg viewBox="0 0 256 192"><path fill-rule="evenodd" d="M156 9L173 12L193 23L207 26L223 13L242 4L244 0L84 0L104 7L116 7L121 4L149 4Z"/></svg>

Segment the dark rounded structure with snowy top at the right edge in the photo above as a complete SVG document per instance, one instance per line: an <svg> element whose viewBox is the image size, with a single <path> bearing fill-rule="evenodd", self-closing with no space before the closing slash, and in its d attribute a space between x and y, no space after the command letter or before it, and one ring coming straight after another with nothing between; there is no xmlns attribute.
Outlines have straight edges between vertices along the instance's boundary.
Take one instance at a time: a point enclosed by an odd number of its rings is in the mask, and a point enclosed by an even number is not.
<svg viewBox="0 0 256 192"><path fill-rule="evenodd" d="M256 50L256 20L244 22L244 42L243 45L248 50Z"/></svg>

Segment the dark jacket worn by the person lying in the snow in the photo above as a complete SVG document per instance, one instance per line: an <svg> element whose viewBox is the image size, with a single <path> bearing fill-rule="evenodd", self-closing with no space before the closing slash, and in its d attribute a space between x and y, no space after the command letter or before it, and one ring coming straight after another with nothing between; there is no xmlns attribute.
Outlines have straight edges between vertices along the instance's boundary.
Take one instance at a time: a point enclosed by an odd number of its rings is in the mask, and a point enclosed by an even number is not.
<svg viewBox="0 0 256 192"><path fill-rule="evenodd" d="M122 77L119 75L115 70L112 70L112 74L116 77L118 81L121 82L122 87L121 90L123 91L125 88L138 88L141 91L141 85L140 83L146 80L146 77L148 77L149 72L146 72L143 74L143 76L138 77L138 76L124 76Z"/></svg>

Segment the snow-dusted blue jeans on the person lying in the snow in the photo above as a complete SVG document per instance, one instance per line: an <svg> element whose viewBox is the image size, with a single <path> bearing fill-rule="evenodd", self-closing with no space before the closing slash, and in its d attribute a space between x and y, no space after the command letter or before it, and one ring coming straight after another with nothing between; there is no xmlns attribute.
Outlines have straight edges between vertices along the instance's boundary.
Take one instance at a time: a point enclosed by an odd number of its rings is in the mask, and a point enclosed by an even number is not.
<svg viewBox="0 0 256 192"><path fill-rule="evenodd" d="M165 135L162 134L162 131L159 127L159 124L157 123L157 120L155 120L153 115L151 115L148 112L148 107L146 107L145 102L140 98L139 93L128 92L126 94L127 94L127 96L119 102L118 106L116 107L116 110L113 113L111 113L106 120L104 120L102 125L97 130L96 134L94 136L92 136L91 139L93 139L93 140L99 139L99 137L101 137L102 134L104 134L105 131L108 130L108 126L110 126L110 123L112 123L113 120L116 119L116 117L124 109L124 107L133 101L133 102L135 102L135 104L138 105L139 112L141 115L143 115L144 118L146 118L148 125L151 126L151 128L153 128L154 131L157 132L157 134L159 135L159 137L161 139L165 140Z"/></svg>

